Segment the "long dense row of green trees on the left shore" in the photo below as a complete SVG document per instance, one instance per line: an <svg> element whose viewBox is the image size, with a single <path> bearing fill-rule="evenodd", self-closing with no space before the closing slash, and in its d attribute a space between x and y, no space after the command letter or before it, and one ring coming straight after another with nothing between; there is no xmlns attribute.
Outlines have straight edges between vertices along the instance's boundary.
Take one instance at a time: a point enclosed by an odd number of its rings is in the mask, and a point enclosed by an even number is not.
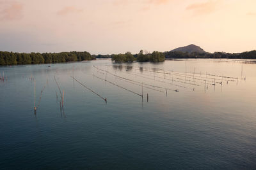
<svg viewBox="0 0 256 170"><path fill-rule="evenodd" d="M94 60L88 52L61 52L61 53L13 53L0 52L0 65L15 64L44 64L56 62L70 62Z"/></svg>

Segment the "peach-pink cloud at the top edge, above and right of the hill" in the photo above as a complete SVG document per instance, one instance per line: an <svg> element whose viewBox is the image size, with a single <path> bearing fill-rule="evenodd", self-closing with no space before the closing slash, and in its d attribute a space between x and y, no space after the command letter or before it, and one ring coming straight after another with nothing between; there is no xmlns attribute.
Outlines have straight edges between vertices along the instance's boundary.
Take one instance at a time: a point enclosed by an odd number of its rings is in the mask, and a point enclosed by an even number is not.
<svg viewBox="0 0 256 170"><path fill-rule="evenodd" d="M196 15L212 13L216 10L220 0L209 0L206 3L193 3L187 6L186 10L193 11Z"/></svg>

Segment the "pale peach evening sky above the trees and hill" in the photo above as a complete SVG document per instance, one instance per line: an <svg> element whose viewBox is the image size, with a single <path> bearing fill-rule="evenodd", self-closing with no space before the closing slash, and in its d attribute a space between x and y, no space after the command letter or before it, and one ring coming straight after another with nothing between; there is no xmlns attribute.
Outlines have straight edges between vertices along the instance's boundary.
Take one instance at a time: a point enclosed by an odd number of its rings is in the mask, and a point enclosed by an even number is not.
<svg viewBox="0 0 256 170"><path fill-rule="evenodd" d="M0 50L256 50L255 0L0 0Z"/></svg>

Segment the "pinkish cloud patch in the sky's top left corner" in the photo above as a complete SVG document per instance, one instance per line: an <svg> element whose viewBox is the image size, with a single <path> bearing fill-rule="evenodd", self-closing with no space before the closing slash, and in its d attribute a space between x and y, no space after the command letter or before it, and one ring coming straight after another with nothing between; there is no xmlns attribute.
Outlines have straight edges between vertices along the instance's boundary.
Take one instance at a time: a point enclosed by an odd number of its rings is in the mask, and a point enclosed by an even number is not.
<svg viewBox="0 0 256 170"><path fill-rule="evenodd" d="M14 1L0 1L0 20L20 20L23 4Z"/></svg>

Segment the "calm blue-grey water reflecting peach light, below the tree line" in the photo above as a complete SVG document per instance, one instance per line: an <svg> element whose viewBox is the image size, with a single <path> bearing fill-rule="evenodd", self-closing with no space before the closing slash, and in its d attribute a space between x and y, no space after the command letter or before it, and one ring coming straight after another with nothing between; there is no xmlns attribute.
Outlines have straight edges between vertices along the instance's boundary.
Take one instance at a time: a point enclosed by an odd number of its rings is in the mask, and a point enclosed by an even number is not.
<svg viewBox="0 0 256 170"><path fill-rule="evenodd" d="M255 60L100 59L3 72L0 169L256 168Z"/></svg>

